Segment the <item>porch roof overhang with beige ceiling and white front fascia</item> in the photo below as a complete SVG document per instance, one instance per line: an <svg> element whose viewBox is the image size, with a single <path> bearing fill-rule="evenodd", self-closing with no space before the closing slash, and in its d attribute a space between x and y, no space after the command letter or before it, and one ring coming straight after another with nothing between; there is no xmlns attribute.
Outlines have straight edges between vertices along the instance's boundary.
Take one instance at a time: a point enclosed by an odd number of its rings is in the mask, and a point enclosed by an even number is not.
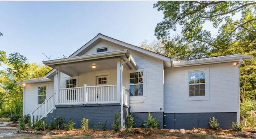
<svg viewBox="0 0 256 139"><path fill-rule="evenodd" d="M61 72L69 76L77 76L80 73L101 71L101 70L112 70L117 68L117 58L121 58L122 61L128 60L130 62L124 65L127 70L138 69L138 66L128 50L120 50L116 52L107 52L102 54L76 56L71 58L63 58L58 60L44 61L43 63L56 69L60 66ZM95 69L92 65L96 65Z"/></svg>

